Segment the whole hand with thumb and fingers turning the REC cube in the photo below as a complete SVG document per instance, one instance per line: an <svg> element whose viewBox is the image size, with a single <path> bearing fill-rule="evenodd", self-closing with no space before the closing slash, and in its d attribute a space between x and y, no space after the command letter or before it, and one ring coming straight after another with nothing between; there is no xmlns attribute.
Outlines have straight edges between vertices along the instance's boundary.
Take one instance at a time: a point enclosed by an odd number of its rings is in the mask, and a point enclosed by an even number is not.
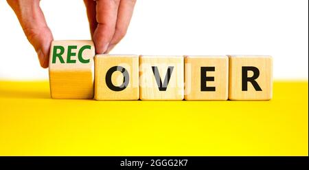
<svg viewBox="0 0 309 170"><path fill-rule="evenodd" d="M34 46L41 66L48 67L54 40L40 8L40 0L7 0L27 39ZM110 52L126 34L136 0L84 0L97 54Z"/></svg>

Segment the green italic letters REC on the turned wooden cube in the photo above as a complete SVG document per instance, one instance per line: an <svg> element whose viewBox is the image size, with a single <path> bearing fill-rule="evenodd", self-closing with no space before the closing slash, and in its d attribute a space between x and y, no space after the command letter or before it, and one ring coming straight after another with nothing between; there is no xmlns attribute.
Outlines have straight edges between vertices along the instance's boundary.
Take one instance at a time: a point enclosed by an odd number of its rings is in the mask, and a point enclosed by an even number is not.
<svg viewBox="0 0 309 170"><path fill-rule="evenodd" d="M69 45L67 47L67 61L65 62L65 60L62 57L62 55L65 53L65 47L55 45L53 48L52 63L53 64L56 63L57 58L59 59L60 63L76 63L75 59L71 59L72 56L76 56L76 53L72 52L72 50L76 50L76 49L77 49L76 45ZM86 64L90 62L90 59L84 59L82 57L82 52L84 52L84 50L91 50L91 45L84 45L78 51L78 61L80 61L80 63Z"/></svg>

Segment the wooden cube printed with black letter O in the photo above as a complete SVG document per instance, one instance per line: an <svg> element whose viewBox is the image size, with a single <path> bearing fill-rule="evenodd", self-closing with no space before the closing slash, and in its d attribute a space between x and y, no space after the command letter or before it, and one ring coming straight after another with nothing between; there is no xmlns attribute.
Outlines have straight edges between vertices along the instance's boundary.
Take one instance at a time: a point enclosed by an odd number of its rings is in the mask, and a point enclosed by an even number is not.
<svg viewBox="0 0 309 170"><path fill-rule="evenodd" d="M96 55L95 99L138 100L139 56Z"/></svg>

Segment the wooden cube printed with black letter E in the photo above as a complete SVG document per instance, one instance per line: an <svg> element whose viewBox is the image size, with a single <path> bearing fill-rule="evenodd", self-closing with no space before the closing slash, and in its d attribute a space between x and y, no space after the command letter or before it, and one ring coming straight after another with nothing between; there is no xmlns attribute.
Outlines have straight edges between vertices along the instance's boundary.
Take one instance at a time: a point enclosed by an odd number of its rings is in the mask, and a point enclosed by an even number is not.
<svg viewBox="0 0 309 170"><path fill-rule="evenodd" d="M185 100L227 100L227 56L185 56Z"/></svg>

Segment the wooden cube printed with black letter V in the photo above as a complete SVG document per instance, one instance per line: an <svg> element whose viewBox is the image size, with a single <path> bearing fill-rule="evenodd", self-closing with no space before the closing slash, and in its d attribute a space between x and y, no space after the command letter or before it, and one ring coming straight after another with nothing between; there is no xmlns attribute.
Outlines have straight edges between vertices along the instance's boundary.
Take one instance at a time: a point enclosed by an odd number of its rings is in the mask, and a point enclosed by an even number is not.
<svg viewBox="0 0 309 170"><path fill-rule="evenodd" d="M183 56L140 56L140 99L183 100Z"/></svg>

